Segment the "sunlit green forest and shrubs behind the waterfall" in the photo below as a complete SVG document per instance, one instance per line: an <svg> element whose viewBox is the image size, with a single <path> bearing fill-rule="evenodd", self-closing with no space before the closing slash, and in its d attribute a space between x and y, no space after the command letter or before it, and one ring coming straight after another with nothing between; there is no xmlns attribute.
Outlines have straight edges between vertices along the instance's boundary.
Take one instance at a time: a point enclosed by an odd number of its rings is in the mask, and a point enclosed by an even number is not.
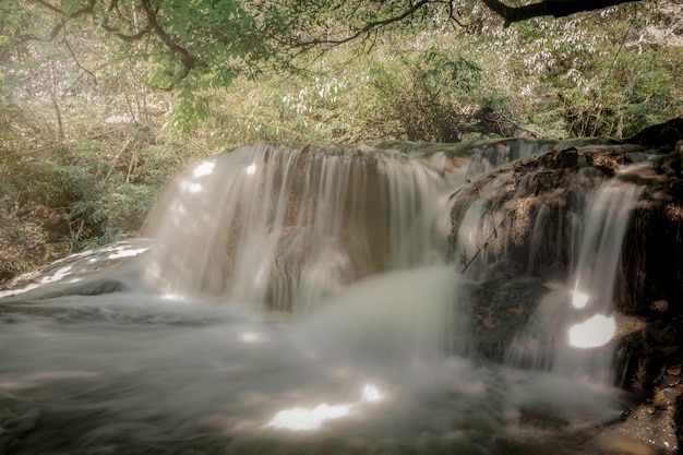
<svg viewBox="0 0 683 455"><path fill-rule="evenodd" d="M0 2L0 283L136 236L180 168L244 144L626 139L683 117L680 2L484 3Z"/></svg>

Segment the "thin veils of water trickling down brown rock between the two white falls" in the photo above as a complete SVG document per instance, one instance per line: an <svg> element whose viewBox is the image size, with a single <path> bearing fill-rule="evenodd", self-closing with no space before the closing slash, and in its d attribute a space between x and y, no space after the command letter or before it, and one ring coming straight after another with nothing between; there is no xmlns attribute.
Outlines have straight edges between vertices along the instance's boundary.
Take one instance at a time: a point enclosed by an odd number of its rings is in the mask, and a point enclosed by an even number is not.
<svg viewBox="0 0 683 455"><path fill-rule="evenodd" d="M604 177L592 168L577 170L582 184L546 176L543 168L500 172L468 188L471 202L457 225L456 259L463 272L482 279L491 266L511 260L528 275L572 267L587 194Z"/></svg>

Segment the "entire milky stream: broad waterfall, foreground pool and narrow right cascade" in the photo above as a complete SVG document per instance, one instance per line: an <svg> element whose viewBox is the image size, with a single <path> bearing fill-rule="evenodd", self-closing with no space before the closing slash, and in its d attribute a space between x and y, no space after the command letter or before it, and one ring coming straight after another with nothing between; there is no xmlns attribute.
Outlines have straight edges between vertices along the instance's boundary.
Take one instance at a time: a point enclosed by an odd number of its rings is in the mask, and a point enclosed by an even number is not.
<svg viewBox="0 0 683 455"><path fill-rule="evenodd" d="M546 296L566 311L541 302L505 360L483 360L479 278L445 254L448 196L556 144L513 145L259 144L193 164L144 238L0 292L0 453L592 450L624 397L604 379L609 337L570 337L610 318L638 190L587 196L574 273ZM464 251L484 215L460 227Z"/></svg>

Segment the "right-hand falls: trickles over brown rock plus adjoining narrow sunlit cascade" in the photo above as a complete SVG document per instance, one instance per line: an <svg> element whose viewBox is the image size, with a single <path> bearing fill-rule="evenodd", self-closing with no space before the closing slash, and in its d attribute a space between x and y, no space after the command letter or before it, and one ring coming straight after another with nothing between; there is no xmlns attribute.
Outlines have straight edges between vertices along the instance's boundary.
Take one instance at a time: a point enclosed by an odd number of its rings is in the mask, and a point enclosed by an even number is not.
<svg viewBox="0 0 683 455"><path fill-rule="evenodd" d="M573 159L560 168L552 167L560 159L554 156L544 166L475 183L477 199L462 216L456 254L463 272L484 287L499 275L546 279L526 328L504 346L506 364L612 385L615 277L642 192L622 177L642 165L612 178L584 167L567 179L564 166L578 163L576 153L568 155ZM553 271L555 264L566 267ZM507 311L524 310L511 306Z"/></svg>

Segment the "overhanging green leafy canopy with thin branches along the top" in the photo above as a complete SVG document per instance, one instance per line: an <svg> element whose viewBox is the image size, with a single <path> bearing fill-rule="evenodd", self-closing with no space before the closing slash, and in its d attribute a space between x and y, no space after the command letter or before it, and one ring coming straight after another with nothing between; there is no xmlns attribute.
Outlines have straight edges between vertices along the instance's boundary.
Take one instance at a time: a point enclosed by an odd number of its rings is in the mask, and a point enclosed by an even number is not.
<svg viewBox="0 0 683 455"><path fill-rule="evenodd" d="M89 24L116 38L110 44L120 58L144 62L141 76L148 84L179 94L176 127L183 130L207 115L197 92L227 86L238 74L292 69L302 53L359 39L372 46L380 33L397 29L467 29L484 10L510 24L628 1L19 0L0 4L0 61L15 65L33 46L68 43ZM3 89L7 63L0 64Z"/></svg>

